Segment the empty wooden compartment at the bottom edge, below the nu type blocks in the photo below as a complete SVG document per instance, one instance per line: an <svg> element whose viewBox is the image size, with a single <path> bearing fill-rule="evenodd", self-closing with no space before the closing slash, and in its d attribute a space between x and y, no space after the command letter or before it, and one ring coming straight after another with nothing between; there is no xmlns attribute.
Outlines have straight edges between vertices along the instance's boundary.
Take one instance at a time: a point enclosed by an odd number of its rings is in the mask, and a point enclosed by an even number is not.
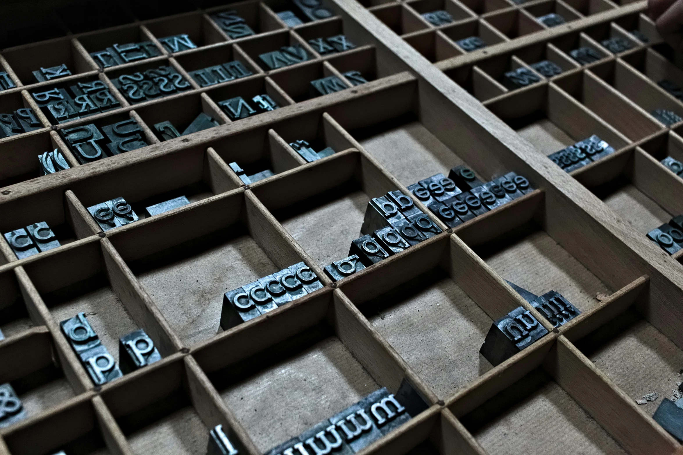
<svg viewBox="0 0 683 455"><path fill-rule="evenodd" d="M460 421L490 454L626 454L541 368L495 394Z"/></svg>

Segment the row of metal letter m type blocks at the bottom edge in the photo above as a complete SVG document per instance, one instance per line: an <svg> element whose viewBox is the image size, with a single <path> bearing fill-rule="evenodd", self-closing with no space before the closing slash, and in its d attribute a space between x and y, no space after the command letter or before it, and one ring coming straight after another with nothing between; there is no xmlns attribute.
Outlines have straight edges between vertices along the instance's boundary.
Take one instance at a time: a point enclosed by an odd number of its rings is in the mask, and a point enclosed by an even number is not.
<svg viewBox="0 0 683 455"><path fill-rule="evenodd" d="M412 393L404 392L402 384L394 395L382 387L266 455L355 454L426 409L423 400L410 389Z"/></svg>

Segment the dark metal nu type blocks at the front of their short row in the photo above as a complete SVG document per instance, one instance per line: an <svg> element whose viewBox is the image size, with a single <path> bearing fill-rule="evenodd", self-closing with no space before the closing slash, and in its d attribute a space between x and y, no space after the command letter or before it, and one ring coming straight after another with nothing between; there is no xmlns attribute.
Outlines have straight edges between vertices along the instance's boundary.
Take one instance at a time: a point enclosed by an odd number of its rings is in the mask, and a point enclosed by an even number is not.
<svg viewBox="0 0 683 455"><path fill-rule="evenodd" d="M479 353L497 366L546 334L548 330L520 306L494 321Z"/></svg>

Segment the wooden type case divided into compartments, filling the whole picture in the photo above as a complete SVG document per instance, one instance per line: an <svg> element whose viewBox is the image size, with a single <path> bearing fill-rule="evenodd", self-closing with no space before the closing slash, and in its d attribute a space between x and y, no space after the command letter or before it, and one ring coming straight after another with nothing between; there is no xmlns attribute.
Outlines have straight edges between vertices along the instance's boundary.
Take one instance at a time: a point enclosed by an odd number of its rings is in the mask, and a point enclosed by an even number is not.
<svg viewBox="0 0 683 455"><path fill-rule="evenodd" d="M208 2L207 2L208 3ZM214 2L219 3L219 2ZM290 8L247 0L5 49L16 88L0 111L31 107L42 128L0 139L0 231L47 222L59 248L17 260L0 238L0 383L29 417L0 430L0 454L202 453L223 424L257 455L379 387L407 380L428 409L363 454L529 452L670 454L652 420L683 368L683 266L645 233L683 213L683 181L660 160L683 158L683 104L656 83L683 73L644 1L330 0L335 16L288 28ZM130 9L132 8L132 9ZM255 35L231 40L210 14L236 10ZM446 10L434 27L421 14ZM566 23L535 18L554 12ZM145 13L146 14L146 13ZM630 32L637 30L641 38ZM197 48L169 53L158 38ZM356 48L318 55L307 40L344 33ZM456 41L487 46L466 53ZM601 44L622 38L613 54ZM99 70L89 53L151 41L160 55ZM302 46L310 59L266 71L258 55ZM594 48L581 65L569 53ZM199 87L188 72L238 60L253 74ZM521 89L503 73L542 60L561 74ZM72 80L101 80L115 111L51 126L30 94L31 71L67 63ZM170 65L188 91L131 106L111 78ZM343 72L368 80L352 87ZM533 71L533 70L532 70ZM349 88L310 98L310 80ZM54 82L52 82L54 83ZM266 93L280 108L231 121L217 104ZM219 126L161 142L206 113ZM58 130L134 119L150 145L79 165ZM616 150L570 175L546 158L598 134ZM332 147L306 163L289 143ZM39 153L72 169L39 177ZM273 176L245 186L228 163ZM370 198L466 164L477 177L515 171L538 188L417 246L331 283ZM185 195L189 205L146 217ZM87 208L123 196L140 220L103 233ZM427 212L415 199L415 204ZM222 295L304 261L324 287L264 317L219 329ZM553 330L510 288L559 291L581 315ZM550 333L492 367L479 347L492 321L523 306ZM141 328L163 359L94 387L59 321L83 311L113 354ZM115 357L117 357L115 355Z"/></svg>

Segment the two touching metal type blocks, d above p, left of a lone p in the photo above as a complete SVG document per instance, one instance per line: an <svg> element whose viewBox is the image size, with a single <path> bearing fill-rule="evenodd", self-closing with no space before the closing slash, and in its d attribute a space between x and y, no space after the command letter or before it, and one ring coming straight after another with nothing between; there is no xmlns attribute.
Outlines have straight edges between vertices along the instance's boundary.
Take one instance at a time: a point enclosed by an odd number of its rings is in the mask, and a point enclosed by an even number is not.
<svg viewBox="0 0 683 455"><path fill-rule="evenodd" d="M114 357L111 357L100 342L83 312L61 321L59 325L95 385L102 385L122 376Z"/></svg>

